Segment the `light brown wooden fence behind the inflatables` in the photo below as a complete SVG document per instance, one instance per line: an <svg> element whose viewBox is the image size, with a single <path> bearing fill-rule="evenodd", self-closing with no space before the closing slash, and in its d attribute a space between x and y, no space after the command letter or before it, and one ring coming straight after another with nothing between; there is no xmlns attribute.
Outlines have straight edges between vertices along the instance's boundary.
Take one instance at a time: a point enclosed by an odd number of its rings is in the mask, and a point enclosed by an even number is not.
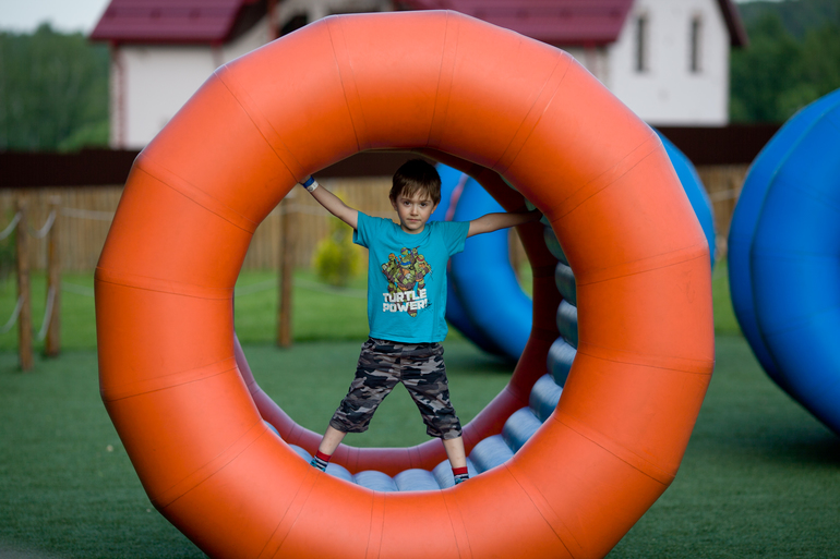
<svg viewBox="0 0 840 559"><path fill-rule="evenodd" d="M718 257L725 255L729 222L746 170L746 165L697 168L715 208ZM324 178L320 182L365 214L393 216L394 210L387 197L389 178ZM91 271L96 267L121 193L121 186L3 189L0 190L0 229L14 216L17 199L26 202L31 227L39 228L49 216L50 202L58 196L61 200L61 219L58 222L61 268L65 271ZM284 241L281 221L287 218L296 235L295 265L311 266L315 246L328 234L329 220L335 218L305 191L296 189L257 228L244 260L245 269L278 268ZM46 269L46 243L29 243L27 251L33 269ZM367 253L362 253L367 257ZM521 254L517 248L514 258L519 257Z"/></svg>

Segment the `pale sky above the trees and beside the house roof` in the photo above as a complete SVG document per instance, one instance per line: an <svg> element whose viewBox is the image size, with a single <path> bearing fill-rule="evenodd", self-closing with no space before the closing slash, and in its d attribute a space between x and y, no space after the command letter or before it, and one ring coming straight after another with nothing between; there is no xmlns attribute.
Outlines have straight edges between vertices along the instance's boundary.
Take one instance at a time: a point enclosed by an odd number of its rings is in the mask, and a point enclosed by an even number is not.
<svg viewBox="0 0 840 559"><path fill-rule="evenodd" d="M745 2L749 0L735 0ZM109 0L0 0L0 29L27 33L49 22L64 33L91 33Z"/></svg>

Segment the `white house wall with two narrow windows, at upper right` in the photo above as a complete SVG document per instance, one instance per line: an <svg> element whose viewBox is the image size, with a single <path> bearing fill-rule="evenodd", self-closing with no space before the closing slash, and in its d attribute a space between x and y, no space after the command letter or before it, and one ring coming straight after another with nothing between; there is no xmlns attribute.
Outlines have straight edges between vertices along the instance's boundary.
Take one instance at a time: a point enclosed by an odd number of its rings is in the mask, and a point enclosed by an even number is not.
<svg viewBox="0 0 840 559"><path fill-rule="evenodd" d="M648 68L638 73L635 23L648 14ZM689 71L692 17L703 22L700 71ZM729 33L716 0L636 0L619 40L609 47L604 84L652 125L729 122Z"/></svg>

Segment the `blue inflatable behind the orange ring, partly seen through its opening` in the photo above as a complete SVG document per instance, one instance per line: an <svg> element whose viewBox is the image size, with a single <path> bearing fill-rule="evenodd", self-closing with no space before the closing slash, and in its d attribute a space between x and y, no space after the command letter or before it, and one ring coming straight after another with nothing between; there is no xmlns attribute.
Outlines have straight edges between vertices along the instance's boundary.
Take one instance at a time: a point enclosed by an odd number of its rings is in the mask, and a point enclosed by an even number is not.
<svg viewBox="0 0 840 559"><path fill-rule="evenodd" d="M659 134L659 137L703 227L715 266L715 214L709 195L685 154L663 135ZM445 165L439 165L437 171L442 183L441 203L432 214L432 220L468 221L484 214L504 211L467 173ZM553 236L550 230L547 234ZM550 246L559 248L555 242ZM562 250L555 253L563 262ZM449 260L448 278L446 319L449 324L482 350L516 362L531 331L531 300L519 285L511 265L508 232L495 231L467 239L465 251ZM559 289L565 287L563 299L574 306L574 275L568 263L563 262L563 267L557 269L556 280ZM561 328L565 317L572 318L576 313L571 308L565 311L559 316ZM568 327L577 329L576 319Z"/></svg>

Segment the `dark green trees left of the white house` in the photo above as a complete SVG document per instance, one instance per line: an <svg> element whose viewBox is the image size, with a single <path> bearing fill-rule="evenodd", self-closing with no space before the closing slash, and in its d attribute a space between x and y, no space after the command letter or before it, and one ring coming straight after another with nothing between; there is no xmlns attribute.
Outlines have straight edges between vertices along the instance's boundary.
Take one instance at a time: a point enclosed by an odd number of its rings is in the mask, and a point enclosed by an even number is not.
<svg viewBox="0 0 840 559"><path fill-rule="evenodd" d="M0 33L0 149L108 144L108 49L43 24Z"/></svg>

